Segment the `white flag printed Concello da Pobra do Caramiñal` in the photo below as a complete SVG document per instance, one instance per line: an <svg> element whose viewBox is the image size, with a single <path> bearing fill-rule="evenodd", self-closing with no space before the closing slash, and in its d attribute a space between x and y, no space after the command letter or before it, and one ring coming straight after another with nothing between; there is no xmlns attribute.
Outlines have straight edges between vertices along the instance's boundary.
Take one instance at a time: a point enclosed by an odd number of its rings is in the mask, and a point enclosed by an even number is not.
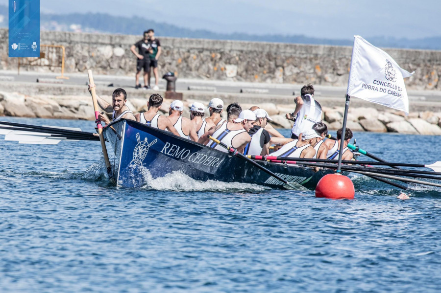
<svg viewBox="0 0 441 293"><path fill-rule="evenodd" d="M347 94L409 113L404 78L414 72L400 68L388 53L354 36Z"/></svg>

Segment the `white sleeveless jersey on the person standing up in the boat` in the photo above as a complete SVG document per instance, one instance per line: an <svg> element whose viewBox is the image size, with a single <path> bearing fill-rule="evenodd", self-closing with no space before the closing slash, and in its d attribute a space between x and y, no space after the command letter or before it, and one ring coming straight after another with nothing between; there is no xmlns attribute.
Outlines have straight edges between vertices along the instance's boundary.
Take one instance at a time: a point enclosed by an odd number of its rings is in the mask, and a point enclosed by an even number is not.
<svg viewBox="0 0 441 293"><path fill-rule="evenodd" d="M321 121L321 106L319 102L314 100L312 95L305 94L302 96L303 106L297 113L294 121L294 126L291 132L294 135L305 133L305 131L312 129L316 122Z"/></svg>

